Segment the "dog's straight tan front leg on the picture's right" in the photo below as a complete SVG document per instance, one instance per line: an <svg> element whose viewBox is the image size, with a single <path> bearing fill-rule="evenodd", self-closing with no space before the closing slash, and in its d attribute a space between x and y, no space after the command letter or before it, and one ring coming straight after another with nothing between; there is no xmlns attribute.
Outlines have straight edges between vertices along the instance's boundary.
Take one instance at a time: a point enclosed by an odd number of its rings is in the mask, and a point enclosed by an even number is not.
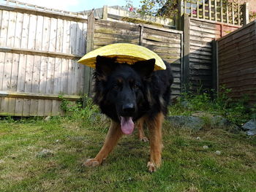
<svg viewBox="0 0 256 192"><path fill-rule="evenodd" d="M162 121L164 115L159 112L157 116L150 120L148 119L149 141L150 141L150 161L148 161L149 172L157 171L162 161Z"/></svg>

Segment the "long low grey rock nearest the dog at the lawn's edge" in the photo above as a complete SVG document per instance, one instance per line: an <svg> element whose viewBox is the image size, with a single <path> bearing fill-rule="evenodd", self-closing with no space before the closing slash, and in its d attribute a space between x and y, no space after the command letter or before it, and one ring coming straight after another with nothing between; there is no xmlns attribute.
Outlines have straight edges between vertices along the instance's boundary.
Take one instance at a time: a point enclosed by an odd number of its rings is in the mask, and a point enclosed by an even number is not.
<svg viewBox="0 0 256 192"><path fill-rule="evenodd" d="M185 126L188 128L200 129L203 128L203 120L197 117L174 115L166 118L176 126Z"/></svg>

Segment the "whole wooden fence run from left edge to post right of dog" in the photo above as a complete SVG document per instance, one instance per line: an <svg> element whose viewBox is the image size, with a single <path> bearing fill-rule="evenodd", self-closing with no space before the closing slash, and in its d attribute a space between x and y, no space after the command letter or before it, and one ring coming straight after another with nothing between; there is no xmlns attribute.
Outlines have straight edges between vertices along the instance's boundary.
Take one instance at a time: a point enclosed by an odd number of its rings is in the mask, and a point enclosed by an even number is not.
<svg viewBox="0 0 256 192"><path fill-rule="evenodd" d="M0 5L0 115L62 115L59 95L78 101L91 94L90 50L115 42L143 45L170 62L173 95L181 93L183 32L97 20L18 1Z"/></svg>

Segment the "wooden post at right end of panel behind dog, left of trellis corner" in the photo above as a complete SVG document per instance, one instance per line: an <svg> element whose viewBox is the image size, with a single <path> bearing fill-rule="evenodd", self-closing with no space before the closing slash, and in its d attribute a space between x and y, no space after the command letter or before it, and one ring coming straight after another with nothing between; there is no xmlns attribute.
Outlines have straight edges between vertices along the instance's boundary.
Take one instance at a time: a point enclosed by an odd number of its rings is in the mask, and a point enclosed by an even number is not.
<svg viewBox="0 0 256 192"><path fill-rule="evenodd" d="M184 91L189 89L189 15L184 14L183 16L183 31L184 31L184 59L183 59L183 80L182 88Z"/></svg>

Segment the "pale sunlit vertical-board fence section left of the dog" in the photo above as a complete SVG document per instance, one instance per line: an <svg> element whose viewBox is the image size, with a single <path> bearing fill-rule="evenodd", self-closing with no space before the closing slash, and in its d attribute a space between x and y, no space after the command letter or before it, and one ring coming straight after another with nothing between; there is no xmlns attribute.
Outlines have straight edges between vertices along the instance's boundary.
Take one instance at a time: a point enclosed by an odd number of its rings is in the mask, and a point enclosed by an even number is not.
<svg viewBox="0 0 256 192"><path fill-rule="evenodd" d="M15 3L15 4L13 4ZM20 5L0 5L0 114L59 115L59 94L80 99L86 53L84 15Z"/></svg>

